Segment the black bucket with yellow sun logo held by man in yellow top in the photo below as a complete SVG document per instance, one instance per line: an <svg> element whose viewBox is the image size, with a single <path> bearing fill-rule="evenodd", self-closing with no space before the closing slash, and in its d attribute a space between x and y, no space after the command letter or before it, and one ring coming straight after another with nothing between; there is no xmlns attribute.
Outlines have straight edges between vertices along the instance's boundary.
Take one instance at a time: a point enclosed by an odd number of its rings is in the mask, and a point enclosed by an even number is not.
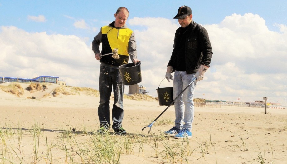
<svg viewBox="0 0 287 164"><path fill-rule="evenodd" d="M134 85L142 81L142 74L140 70L140 62L136 65L128 63L119 66L119 73L124 82L124 85Z"/></svg>

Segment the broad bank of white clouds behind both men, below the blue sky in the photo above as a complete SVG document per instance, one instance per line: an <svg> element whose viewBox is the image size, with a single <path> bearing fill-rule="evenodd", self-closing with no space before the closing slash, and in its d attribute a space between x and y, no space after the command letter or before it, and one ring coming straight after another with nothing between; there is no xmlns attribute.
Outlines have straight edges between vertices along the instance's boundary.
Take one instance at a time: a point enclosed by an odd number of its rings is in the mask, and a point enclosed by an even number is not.
<svg viewBox="0 0 287 164"><path fill-rule="evenodd" d="M200 23L200 20L195 22ZM195 97L248 102L267 96L286 104L287 35L268 30L264 19L251 13L233 14L219 24L203 25L212 43L211 67L198 82ZM85 21L77 27L86 28ZM142 82L151 95L163 80L173 51L178 22L164 18L128 20L137 40L142 62ZM98 31L97 31L98 32ZM96 32L96 33L97 33ZM13 26L0 28L0 76L32 78L59 76L67 85L98 89L100 63L91 45L74 35L29 33ZM171 87L162 81L160 87ZM128 87L125 93L128 92Z"/></svg>

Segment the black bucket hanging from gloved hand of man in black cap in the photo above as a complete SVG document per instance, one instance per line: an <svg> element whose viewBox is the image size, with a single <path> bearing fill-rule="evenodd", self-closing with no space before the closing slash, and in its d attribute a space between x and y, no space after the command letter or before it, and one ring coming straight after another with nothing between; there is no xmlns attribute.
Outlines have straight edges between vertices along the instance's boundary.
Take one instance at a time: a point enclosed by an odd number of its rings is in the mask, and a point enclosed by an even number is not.
<svg viewBox="0 0 287 164"><path fill-rule="evenodd" d="M165 78L164 78L165 79ZM164 80L163 79L163 80ZM163 80L161 82L163 82ZM159 83L159 85L161 84ZM173 105L173 87L159 88L156 89L158 92L158 102L160 106ZM173 102L173 104L171 104Z"/></svg>

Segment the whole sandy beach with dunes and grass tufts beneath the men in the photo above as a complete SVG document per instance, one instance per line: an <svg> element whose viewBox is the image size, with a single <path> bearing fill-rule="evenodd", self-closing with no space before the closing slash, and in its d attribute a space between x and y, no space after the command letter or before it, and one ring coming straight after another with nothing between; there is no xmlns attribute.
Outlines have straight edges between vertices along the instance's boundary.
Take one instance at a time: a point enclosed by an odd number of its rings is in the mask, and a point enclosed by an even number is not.
<svg viewBox="0 0 287 164"><path fill-rule="evenodd" d="M123 127L128 135L112 130L99 135L95 92L56 84L29 91L30 84L17 83L22 87L17 96L3 90L10 84L0 84L0 163L98 163L96 152L109 145L100 163L287 163L286 109L264 114L264 108L196 107L193 137L182 140L163 134L173 127L173 106L148 133L149 128L142 128L166 106L125 98Z"/></svg>

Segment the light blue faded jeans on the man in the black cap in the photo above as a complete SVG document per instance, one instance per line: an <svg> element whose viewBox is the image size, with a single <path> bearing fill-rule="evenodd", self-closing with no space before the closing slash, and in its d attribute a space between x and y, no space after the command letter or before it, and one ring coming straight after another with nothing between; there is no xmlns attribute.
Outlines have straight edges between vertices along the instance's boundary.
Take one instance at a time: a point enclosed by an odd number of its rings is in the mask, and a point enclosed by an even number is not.
<svg viewBox="0 0 287 164"><path fill-rule="evenodd" d="M173 79L173 99L175 99L192 80L195 74L186 74L186 71L175 71ZM194 117L193 93L195 89L193 82L180 97L174 102L175 127L178 129L186 128L191 132Z"/></svg>

